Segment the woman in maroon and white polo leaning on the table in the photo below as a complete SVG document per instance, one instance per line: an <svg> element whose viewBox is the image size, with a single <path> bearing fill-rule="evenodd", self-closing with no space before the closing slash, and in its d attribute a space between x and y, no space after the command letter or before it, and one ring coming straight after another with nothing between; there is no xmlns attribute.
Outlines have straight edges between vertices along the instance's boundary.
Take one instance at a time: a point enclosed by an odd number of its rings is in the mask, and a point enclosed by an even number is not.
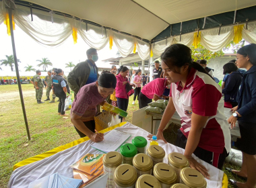
<svg viewBox="0 0 256 188"><path fill-rule="evenodd" d="M164 140L163 130L177 111L181 116L181 129L175 145L185 149L190 167L209 179L207 169L192 154L222 169L231 148L228 122L223 115L222 91L204 68L192 61L189 47L173 44L164 50L161 59L164 77L171 86L156 136Z"/></svg>

